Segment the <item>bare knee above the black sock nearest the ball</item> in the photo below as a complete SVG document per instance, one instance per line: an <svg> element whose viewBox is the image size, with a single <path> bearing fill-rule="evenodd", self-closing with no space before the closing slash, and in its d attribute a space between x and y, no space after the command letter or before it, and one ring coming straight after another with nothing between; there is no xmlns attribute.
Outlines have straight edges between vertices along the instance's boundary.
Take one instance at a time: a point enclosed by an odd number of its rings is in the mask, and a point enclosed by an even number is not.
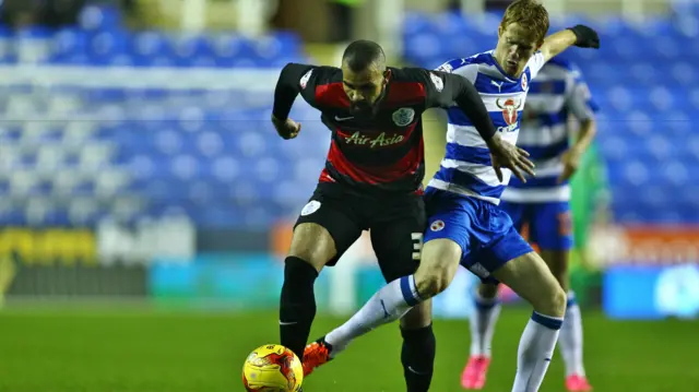
<svg viewBox="0 0 699 392"><path fill-rule="evenodd" d="M335 253L335 241L324 227L303 223L294 229L289 257L301 259L320 271Z"/></svg>

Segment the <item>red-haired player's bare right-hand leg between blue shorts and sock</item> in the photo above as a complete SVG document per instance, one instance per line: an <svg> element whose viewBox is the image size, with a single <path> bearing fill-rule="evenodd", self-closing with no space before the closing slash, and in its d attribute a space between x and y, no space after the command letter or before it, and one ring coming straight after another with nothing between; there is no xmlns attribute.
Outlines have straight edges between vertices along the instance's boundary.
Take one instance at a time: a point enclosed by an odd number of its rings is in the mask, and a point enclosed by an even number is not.
<svg viewBox="0 0 699 392"><path fill-rule="evenodd" d="M532 304L536 311L546 316L564 317L566 293L536 252L531 251L514 258L494 271L493 276Z"/></svg>

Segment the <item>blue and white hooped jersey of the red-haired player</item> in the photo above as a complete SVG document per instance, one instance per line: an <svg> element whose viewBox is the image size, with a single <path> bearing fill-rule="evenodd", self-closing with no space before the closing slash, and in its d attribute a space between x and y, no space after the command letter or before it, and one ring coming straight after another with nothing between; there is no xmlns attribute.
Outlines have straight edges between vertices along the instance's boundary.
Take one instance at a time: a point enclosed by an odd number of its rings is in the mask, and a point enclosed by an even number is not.
<svg viewBox="0 0 699 392"><path fill-rule="evenodd" d="M471 81L481 93L502 140L516 144L530 81L536 78L544 63L544 55L536 52L520 78L514 79L498 66L493 51L486 51L448 61L437 70L457 73ZM485 140L471 120L455 106L448 110L448 115L447 152L428 187L499 204L512 173L503 169L500 182L493 169Z"/></svg>

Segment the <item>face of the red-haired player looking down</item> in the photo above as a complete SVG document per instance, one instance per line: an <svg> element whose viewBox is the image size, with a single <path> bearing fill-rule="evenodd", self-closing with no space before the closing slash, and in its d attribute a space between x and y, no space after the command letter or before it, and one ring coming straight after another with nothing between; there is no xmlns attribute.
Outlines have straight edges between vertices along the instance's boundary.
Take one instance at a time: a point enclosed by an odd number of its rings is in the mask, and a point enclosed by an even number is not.
<svg viewBox="0 0 699 392"><path fill-rule="evenodd" d="M529 60L538 50L541 44L532 29L511 23L500 25L498 46L495 57L507 74L519 78Z"/></svg>

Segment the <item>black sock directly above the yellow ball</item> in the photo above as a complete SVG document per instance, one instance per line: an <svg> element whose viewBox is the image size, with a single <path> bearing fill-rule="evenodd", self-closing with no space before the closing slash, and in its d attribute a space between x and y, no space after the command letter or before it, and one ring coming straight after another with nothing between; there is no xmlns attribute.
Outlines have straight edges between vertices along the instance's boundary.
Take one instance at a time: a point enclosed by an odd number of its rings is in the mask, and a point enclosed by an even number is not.
<svg viewBox="0 0 699 392"><path fill-rule="evenodd" d="M284 264L284 286L280 300L281 343L304 360L304 348L316 317L313 284L318 271L295 257L286 258Z"/></svg>

